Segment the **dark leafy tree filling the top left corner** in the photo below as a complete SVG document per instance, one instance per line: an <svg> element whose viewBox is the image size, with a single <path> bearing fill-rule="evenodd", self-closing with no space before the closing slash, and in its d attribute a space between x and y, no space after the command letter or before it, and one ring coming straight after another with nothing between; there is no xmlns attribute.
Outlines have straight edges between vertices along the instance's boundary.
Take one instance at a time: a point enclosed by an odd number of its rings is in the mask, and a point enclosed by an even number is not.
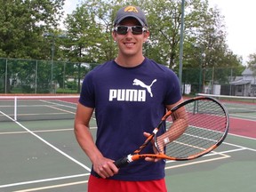
<svg viewBox="0 0 256 192"><path fill-rule="evenodd" d="M47 49L42 34L58 26L63 4L64 0L0 0L0 56L45 59L48 54L45 54ZM11 66L8 71L22 74ZM0 68L2 71L5 66ZM29 68L24 65L22 70ZM9 72L7 79L10 77ZM7 80L7 87L10 92L10 80Z"/></svg>

